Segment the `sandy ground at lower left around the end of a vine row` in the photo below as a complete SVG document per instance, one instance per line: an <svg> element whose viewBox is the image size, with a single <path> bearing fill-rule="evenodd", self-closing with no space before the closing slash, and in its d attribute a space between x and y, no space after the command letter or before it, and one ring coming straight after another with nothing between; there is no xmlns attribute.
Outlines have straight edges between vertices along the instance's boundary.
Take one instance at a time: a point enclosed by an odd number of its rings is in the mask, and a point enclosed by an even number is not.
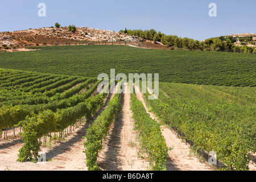
<svg viewBox="0 0 256 182"><path fill-rule="evenodd" d="M108 102L114 97L110 93L105 99L105 105L94 115L93 121L106 108ZM0 141L0 171L86 171L86 155L83 152L86 129L89 124L82 123L80 127L72 131L65 140L51 143L51 146L41 146L41 151L46 152L46 164L32 162L16 162L18 159L19 149L23 142L19 137L14 139Z"/></svg>

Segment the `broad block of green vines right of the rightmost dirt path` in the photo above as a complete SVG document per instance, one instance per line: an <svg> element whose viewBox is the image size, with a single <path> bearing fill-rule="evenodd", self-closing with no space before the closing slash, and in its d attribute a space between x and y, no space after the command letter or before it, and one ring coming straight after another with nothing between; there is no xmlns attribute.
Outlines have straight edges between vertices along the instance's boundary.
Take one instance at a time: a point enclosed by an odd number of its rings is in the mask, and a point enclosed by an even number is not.
<svg viewBox="0 0 256 182"><path fill-rule="evenodd" d="M216 151L225 169L249 169L250 152L256 151L255 89L174 83L159 86L158 100L145 98L164 123L183 132L198 148Z"/></svg>

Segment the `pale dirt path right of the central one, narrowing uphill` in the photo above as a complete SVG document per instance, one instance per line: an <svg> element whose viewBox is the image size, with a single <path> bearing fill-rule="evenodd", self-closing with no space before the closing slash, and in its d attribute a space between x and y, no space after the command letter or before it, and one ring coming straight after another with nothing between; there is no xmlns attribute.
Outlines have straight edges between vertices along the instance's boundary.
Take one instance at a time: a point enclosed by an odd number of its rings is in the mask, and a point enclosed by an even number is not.
<svg viewBox="0 0 256 182"><path fill-rule="evenodd" d="M135 90L137 90L137 97L139 101L142 101L147 113L150 114L152 119L159 122L155 117L154 113L148 111L146 106L146 102L144 101L143 95L141 92L138 92L138 88L135 86ZM177 135L174 134L173 131L168 129L166 126L162 125L162 135L164 139L166 139L167 147L172 147L173 150L168 151L167 158L167 170L168 171L209 171L211 168L206 164L199 161L196 156L189 155L190 149L189 147L182 142L180 138L177 138Z"/></svg>

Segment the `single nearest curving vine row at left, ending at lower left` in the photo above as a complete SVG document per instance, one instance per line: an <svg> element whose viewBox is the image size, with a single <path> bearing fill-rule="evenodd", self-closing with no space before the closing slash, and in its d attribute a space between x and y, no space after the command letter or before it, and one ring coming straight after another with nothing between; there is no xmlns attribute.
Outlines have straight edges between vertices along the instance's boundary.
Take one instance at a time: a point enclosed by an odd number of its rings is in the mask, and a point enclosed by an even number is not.
<svg viewBox="0 0 256 182"><path fill-rule="evenodd" d="M43 110L33 117L27 117L18 125L23 126L22 140L24 145L19 150L18 161L36 161L40 142L38 138L51 132L62 131L70 125L74 125L78 119L86 117L87 121L92 119L92 114L96 113L99 106L103 105L101 94L88 98L84 102L67 109L58 109L55 112Z"/></svg>

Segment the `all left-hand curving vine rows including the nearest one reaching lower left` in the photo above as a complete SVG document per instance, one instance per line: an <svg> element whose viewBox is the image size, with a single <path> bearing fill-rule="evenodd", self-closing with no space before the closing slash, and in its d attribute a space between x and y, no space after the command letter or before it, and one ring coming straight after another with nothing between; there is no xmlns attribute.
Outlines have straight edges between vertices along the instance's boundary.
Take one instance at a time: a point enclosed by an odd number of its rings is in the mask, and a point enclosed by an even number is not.
<svg viewBox="0 0 256 182"><path fill-rule="evenodd" d="M63 131L81 118L89 122L107 95L94 96L101 81L0 69L0 130L23 127L24 145L18 161L36 162L41 144L38 138Z"/></svg>

